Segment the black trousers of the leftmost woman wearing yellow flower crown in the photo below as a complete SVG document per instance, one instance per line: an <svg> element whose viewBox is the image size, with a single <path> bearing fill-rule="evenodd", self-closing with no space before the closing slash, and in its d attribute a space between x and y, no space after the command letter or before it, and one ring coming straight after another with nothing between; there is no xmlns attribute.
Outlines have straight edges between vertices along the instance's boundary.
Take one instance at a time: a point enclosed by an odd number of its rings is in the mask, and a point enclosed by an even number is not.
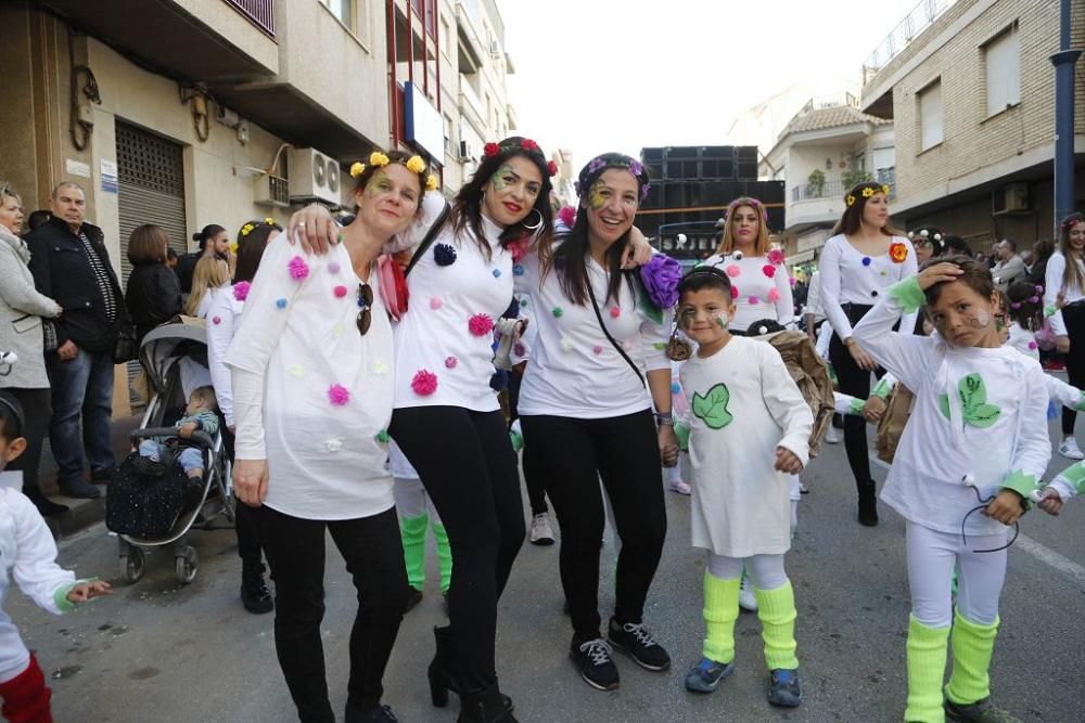
<svg viewBox="0 0 1085 723"><path fill-rule="evenodd" d="M324 677L324 534L346 560L358 614L350 630L346 721L380 703L381 679L407 605L407 571L395 508L343 520L301 519L252 508L276 582L275 646L303 723L334 723Z"/></svg>

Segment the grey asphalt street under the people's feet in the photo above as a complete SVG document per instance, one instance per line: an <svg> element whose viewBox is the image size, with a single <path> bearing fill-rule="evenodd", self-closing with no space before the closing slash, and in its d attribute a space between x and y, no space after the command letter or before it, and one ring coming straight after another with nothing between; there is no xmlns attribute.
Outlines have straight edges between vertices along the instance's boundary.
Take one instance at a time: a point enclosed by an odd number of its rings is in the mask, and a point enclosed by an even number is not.
<svg viewBox="0 0 1085 723"><path fill-rule="evenodd" d="M1056 426L1051 427L1052 434ZM1052 469L1065 466L1056 456ZM879 480L885 470L875 467ZM908 590L902 519L881 506L875 529L854 521L854 488L843 446L827 446L805 474L813 492L800 508L788 568L799 606L799 655L806 699L791 712L764 699L757 619L737 628L737 673L715 694L687 693L681 681L702 635L701 555L689 547L688 500L667 494L669 531L647 621L675 664L649 673L618 657L622 688L588 688L565 651L557 547L524 545L501 605L499 670L521 721L899 721L905 698ZM1027 721L1080 722L1085 683L1085 506L1058 519L1030 513L1011 548L1003 627L992 667L999 702ZM1027 539L1025 539L1027 538ZM291 721L293 706L276 663L272 616L246 614L238 601L240 565L230 531L194 539L201 569L186 588L173 559L149 559L136 585L117 583L115 540L95 526L62 544L61 563L79 574L114 580L116 594L64 618L13 593L9 611L52 674L58 721ZM604 547L602 598L611 601L614 543ZM326 654L333 705L345 700L346 643L353 589L332 554ZM435 578L435 569L433 578ZM433 586L404 621L385 701L403 721L446 721L452 707L429 705L430 629L441 623Z"/></svg>

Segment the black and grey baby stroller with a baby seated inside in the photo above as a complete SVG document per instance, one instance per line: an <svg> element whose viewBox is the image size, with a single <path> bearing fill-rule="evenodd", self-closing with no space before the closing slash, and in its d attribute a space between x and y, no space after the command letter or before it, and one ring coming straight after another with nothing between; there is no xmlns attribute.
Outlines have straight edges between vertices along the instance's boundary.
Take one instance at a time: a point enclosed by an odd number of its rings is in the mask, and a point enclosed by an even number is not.
<svg viewBox="0 0 1085 723"><path fill-rule="evenodd" d="M166 438L176 447L178 429L167 426L184 410L191 389L209 385L207 335L203 320L179 317L152 330L140 346L140 364L146 373L151 399L139 429L131 432L133 448L148 438ZM225 424L219 419L221 429ZM222 435L214 437L194 431L184 444L197 447L203 454L204 482L196 495L187 490L180 464L167 454L165 472L146 474L138 451L117 468L108 487L106 527L119 541L120 574L128 582L143 577L145 552L173 546L178 582L195 579L199 556L188 544L191 529L225 529L234 521L234 499L229 461L222 449ZM227 525L222 525L225 519Z"/></svg>

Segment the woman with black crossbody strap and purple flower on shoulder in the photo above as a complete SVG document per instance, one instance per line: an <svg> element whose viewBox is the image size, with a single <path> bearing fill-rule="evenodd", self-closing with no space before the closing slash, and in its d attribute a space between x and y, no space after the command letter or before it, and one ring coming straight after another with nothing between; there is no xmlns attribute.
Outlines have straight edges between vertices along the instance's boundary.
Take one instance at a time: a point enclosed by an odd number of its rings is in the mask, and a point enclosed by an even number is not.
<svg viewBox="0 0 1085 723"><path fill-rule="evenodd" d="M536 323L520 389L524 447L533 450L561 526L561 582L574 631L570 657L601 690L618 687L611 646L648 670L671 666L642 615L667 527L660 460L671 466L678 457L664 349L680 270L656 255L639 273L622 272L647 191L638 160L617 153L596 157L580 170L572 229L558 243L542 244L516 272L521 307ZM605 636L598 602L600 477L622 541Z"/></svg>

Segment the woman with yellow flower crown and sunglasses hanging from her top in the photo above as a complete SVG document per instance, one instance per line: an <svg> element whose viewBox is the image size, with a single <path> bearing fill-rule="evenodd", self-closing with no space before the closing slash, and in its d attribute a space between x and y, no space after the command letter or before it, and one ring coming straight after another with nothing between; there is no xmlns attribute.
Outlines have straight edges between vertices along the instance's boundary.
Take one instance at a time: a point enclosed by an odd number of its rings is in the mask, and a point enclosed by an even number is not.
<svg viewBox="0 0 1085 723"><path fill-rule="evenodd" d="M358 591L345 720L396 720L381 706L381 679L407 573L384 464L394 350L376 260L414 219L425 173L418 156L374 153L343 243L320 257L268 245L227 353L234 486L256 508L276 581L276 651L302 721L335 720L320 638L328 533Z"/></svg>

